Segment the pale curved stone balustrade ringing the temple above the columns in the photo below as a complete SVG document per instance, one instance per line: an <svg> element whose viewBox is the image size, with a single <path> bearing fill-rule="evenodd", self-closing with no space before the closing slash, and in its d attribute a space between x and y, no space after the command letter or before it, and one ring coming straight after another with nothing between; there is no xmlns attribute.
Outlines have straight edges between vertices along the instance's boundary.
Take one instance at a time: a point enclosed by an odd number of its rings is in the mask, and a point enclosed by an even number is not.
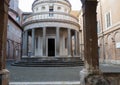
<svg viewBox="0 0 120 85"><path fill-rule="evenodd" d="M42 13L34 13L30 16L28 16L23 24L35 20L41 20L41 21L47 21L47 20L60 20L60 21L69 21L69 22L74 22L78 23L78 19L70 14L65 14L65 13L59 13L59 12L42 12Z"/></svg>

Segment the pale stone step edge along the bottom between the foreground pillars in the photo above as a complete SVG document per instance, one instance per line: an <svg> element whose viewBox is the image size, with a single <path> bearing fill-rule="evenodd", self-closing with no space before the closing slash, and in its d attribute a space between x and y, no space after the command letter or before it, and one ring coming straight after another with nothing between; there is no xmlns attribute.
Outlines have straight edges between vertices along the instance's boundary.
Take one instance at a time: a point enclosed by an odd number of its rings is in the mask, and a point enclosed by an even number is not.
<svg viewBox="0 0 120 85"><path fill-rule="evenodd" d="M9 85L80 85L80 81L10 82Z"/></svg>

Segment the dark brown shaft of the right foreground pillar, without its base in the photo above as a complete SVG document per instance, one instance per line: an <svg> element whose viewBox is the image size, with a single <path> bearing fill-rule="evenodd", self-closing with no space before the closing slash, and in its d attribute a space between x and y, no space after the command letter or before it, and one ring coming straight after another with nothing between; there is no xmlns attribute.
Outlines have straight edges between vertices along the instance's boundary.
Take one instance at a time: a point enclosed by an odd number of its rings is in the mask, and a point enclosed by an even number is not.
<svg viewBox="0 0 120 85"><path fill-rule="evenodd" d="M81 1L83 3L85 67L87 70L94 72L99 69L96 19L97 0Z"/></svg>

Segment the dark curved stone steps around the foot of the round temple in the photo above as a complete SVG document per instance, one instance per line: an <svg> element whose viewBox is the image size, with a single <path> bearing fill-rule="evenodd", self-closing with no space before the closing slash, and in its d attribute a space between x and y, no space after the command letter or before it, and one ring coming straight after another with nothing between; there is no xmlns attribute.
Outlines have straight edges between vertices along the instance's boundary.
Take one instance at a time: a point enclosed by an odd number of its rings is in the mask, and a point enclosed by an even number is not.
<svg viewBox="0 0 120 85"><path fill-rule="evenodd" d="M43 59L43 58L42 58ZM13 66L22 67L73 67L73 66L83 66L84 62L80 58L52 58L52 60L41 58L25 58L21 61L12 63Z"/></svg>

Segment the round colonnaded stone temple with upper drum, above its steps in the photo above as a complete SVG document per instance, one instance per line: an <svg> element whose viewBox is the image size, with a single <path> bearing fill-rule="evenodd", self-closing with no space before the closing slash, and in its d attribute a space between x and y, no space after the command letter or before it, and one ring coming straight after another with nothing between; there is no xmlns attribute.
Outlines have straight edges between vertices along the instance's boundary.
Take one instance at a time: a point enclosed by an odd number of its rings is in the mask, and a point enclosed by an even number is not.
<svg viewBox="0 0 120 85"><path fill-rule="evenodd" d="M68 0L35 0L32 11L23 23L22 58L79 56L80 26Z"/></svg>

